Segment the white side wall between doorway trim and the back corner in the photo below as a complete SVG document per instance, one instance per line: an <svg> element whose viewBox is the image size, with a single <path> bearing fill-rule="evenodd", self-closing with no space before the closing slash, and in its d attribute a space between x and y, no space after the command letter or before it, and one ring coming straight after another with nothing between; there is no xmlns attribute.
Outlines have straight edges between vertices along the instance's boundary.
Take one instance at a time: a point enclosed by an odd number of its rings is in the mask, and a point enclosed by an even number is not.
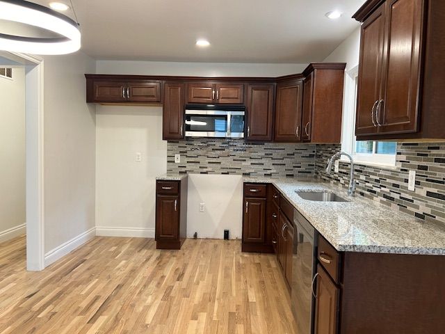
<svg viewBox="0 0 445 334"><path fill-rule="evenodd" d="M95 72L95 61L80 51L44 57L44 251L49 262L70 250L80 235L94 234L95 105L86 104L83 75L89 72Z"/></svg>

